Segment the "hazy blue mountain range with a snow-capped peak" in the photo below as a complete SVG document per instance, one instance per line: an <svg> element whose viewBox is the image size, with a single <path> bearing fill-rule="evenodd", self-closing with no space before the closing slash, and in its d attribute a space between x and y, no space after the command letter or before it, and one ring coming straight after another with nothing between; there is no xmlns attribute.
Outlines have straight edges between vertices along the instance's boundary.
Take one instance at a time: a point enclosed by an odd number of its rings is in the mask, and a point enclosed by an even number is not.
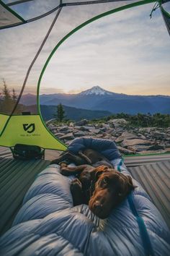
<svg viewBox="0 0 170 256"><path fill-rule="evenodd" d="M36 95L22 95L26 106L36 103ZM77 94L55 93L40 95L40 105L57 106L62 103L73 108L83 108L91 111L109 111L112 114L127 113L161 113L170 114L170 96L168 95L126 95L112 93L94 86Z"/></svg>

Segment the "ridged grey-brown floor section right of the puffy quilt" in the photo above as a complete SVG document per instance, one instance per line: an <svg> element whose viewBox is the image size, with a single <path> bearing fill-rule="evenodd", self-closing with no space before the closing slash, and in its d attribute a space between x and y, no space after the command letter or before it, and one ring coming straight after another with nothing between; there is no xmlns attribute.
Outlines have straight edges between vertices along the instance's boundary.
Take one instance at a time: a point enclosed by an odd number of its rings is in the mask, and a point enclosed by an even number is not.
<svg viewBox="0 0 170 256"><path fill-rule="evenodd" d="M128 168L151 197L170 229L170 161Z"/></svg>

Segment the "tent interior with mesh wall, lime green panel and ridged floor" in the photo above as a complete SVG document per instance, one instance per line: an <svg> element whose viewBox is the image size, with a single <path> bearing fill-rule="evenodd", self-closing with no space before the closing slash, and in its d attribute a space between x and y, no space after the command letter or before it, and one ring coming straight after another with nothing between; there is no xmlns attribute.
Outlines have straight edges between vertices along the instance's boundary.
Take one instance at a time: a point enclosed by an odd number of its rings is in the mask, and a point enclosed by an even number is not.
<svg viewBox="0 0 170 256"><path fill-rule="evenodd" d="M14 86L18 94L14 102L7 105L3 105L0 95L0 146L2 146L0 148L0 182L1 205L3 205L1 234L9 229L22 205L27 189L37 174L49 165L51 159L51 156L47 155L48 160L45 161L27 161L26 163L20 160L14 161L5 147L12 148L20 143L37 145L48 150L67 149L67 146L48 130L40 109L40 88L43 86L43 77L50 60L57 54L61 44L82 27L126 9L134 9L133 12L135 12L135 7L146 4L152 4L152 6L155 4L154 8L160 9L159 15L162 15L170 34L170 2L166 0L0 1L0 36L4 38L1 49L4 51L3 54L12 56L12 61L15 59L10 68L4 63L6 71L2 75L9 85ZM11 48L6 48L6 40L14 42ZM29 56L26 54L27 51L30 53ZM25 56L27 56L27 62L24 62ZM3 65L3 59L1 65ZM9 74L12 80L8 77ZM24 101L22 97L25 92L33 92L37 95L35 102L32 103L34 105L32 111L27 111L27 108L22 106L21 102ZM169 155L125 157L125 164L130 174L146 190L150 187L147 190L148 194L164 216L167 225L170 226L170 208L167 199L169 189L166 184L170 171ZM156 181L156 176L159 182ZM17 197L17 195L20 196ZM9 200L5 200L7 197Z"/></svg>

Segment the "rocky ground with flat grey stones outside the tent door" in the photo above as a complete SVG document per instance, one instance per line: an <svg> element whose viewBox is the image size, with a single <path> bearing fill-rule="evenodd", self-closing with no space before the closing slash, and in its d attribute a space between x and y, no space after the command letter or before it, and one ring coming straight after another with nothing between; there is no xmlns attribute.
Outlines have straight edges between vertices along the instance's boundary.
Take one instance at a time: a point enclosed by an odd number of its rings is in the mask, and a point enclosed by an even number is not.
<svg viewBox="0 0 170 256"><path fill-rule="evenodd" d="M77 137L95 137L115 141L120 153L125 155L170 153L170 127L130 127L125 119L111 119L101 124L90 124L84 119L69 125L50 120L46 124L66 145Z"/></svg>

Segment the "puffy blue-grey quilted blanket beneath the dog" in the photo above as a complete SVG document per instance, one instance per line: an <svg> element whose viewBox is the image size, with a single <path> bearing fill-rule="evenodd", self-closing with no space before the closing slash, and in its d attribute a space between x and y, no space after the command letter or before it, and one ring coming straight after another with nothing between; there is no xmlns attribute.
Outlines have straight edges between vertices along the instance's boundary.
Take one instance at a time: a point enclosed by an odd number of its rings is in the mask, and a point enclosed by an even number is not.
<svg viewBox="0 0 170 256"><path fill-rule="evenodd" d="M128 174L114 142L76 139L73 153L93 148ZM109 218L100 220L88 205L73 207L70 183L58 165L42 171L24 197L12 229L0 239L0 255L169 255L169 229L150 197L138 187Z"/></svg>

